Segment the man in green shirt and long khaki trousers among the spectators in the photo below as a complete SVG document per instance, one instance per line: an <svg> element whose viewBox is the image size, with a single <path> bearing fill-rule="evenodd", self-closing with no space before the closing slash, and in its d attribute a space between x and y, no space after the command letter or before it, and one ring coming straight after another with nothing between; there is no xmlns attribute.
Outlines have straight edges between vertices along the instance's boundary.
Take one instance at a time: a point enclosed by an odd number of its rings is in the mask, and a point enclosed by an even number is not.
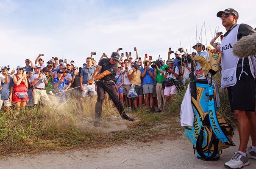
<svg viewBox="0 0 256 169"><path fill-rule="evenodd" d="M156 97L158 104L158 111L162 112L165 106L164 90L162 89L162 82L164 81L164 71L165 68L169 67L164 63L163 58L159 58L160 68L156 65L154 69L154 76L156 77Z"/></svg>

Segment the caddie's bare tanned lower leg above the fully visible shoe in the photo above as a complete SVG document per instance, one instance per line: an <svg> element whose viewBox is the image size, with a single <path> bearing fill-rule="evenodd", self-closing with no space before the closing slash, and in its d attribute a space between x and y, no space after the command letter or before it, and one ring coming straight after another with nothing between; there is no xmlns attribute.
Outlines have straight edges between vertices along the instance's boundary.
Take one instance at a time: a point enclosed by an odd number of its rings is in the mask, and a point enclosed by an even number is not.
<svg viewBox="0 0 256 169"><path fill-rule="evenodd" d="M234 110L234 113L238 121L238 132L239 132L239 151L246 152L246 147L250 137L250 120L248 118L248 112L244 110Z"/></svg>

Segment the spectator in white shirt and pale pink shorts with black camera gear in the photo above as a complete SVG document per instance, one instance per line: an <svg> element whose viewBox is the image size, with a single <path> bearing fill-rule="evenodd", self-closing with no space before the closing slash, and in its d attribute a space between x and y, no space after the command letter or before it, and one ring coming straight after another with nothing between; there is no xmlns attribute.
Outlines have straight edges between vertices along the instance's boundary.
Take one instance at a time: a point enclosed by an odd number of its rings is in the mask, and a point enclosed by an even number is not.
<svg viewBox="0 0 256 169"><path fill-rule="evenodd" d="M177 66L174 66L173 59L167 60L166 63L169 67L165 68L164 71L164 97L166 99L166 103L168 104L170 101L170 96L175 98L179 70Z"/></svg>

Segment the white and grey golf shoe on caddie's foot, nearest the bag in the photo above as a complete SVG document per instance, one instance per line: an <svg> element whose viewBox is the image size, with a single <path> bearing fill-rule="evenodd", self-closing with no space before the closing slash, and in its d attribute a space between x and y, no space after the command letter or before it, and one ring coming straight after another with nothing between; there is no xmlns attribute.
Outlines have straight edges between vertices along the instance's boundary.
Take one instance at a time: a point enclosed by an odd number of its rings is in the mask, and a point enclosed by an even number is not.
<svg viewBox="0 0 256 169"><path fill-rule="evenodd" d="M226 162L224 166L229 169L242 169L244 166L248 166L249 164L250 162L247 157L235 152L231 160Z"/></svg>

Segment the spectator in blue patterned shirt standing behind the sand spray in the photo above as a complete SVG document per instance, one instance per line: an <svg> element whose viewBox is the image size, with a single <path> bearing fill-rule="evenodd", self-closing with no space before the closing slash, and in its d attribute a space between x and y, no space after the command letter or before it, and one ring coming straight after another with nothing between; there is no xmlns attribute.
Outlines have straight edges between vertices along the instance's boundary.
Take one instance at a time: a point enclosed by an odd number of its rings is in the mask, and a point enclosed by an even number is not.
<svg viewBox="0 0 256 169"><path fill-rule="evenodd" d="M57 77L53 80L53 87L56 95L58 96L58 103L64 103L66 101L65 91L72 85L63 76L63 71L59 69L57 71ZM67 87L65 87L67 85Z"/></svg>

